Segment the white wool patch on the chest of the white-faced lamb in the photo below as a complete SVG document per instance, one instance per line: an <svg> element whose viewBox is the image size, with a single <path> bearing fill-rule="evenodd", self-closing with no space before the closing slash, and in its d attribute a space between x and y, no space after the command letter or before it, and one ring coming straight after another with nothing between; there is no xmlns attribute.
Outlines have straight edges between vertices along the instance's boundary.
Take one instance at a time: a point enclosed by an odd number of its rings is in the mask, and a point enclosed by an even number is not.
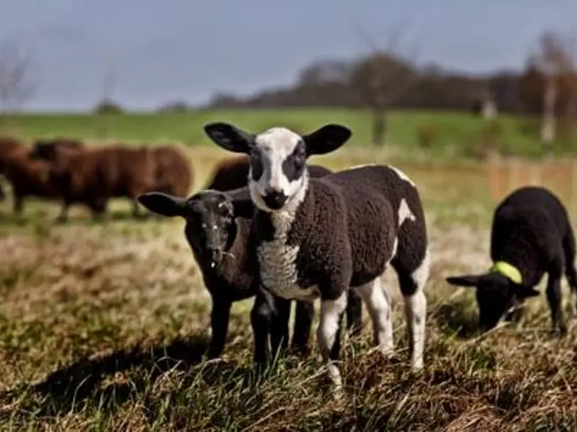
<svg viewBox="0 0 577 432"><path fill-rule="evenodd" d="M318 297L316 287L302 289L298 287L296 256L298 245L287 245L288 232L296 216L298 206L303 202L308 189L308 178L303 187L296 192L281 211L270 213L274 226L274 238L263 241L257 247L261 282L274 294L285 299L312 300Z"/></svg>

